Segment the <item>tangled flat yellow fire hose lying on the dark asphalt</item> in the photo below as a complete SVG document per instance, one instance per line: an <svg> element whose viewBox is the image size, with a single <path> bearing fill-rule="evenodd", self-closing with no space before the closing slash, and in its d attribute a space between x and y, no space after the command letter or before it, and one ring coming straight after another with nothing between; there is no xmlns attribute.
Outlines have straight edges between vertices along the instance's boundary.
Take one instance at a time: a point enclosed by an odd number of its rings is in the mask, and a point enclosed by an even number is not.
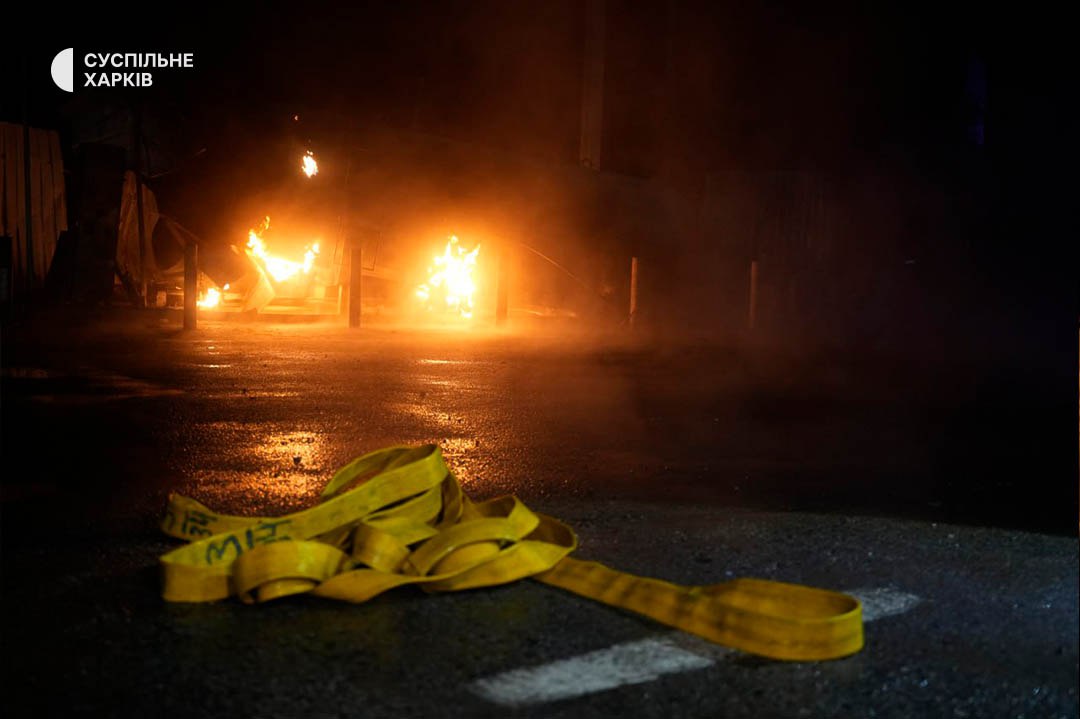
<svg viewBox="0 0 1080 719"><path fill-rule="evenodd" d="M773 659L863 647L862 607L848 595L757 579L679 586L573 559L569 527L516 497L472 502L435 445L355 459L319 504L282 517L221 515L173 494L161 528L188 541L161 557L167 601L310 593L359 603L405 584L453 592L528 576Z"/></svg>

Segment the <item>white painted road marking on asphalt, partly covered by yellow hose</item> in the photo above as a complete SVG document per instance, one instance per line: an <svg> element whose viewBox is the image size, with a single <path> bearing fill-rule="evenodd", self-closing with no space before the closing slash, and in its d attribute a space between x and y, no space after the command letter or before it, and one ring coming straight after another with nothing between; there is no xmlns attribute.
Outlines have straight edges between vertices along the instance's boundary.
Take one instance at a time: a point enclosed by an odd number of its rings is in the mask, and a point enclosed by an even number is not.
<svg viewBox="0 0 1080 719"><path fill-rule="evenodd" d="M888 587L848 592L863 602L863 622L908 611L921 599ZM665 674L704 669L734 650L673 633L627 641L539 666L477 679L469 689L503 706L543 704L652 681Z"/></svg>

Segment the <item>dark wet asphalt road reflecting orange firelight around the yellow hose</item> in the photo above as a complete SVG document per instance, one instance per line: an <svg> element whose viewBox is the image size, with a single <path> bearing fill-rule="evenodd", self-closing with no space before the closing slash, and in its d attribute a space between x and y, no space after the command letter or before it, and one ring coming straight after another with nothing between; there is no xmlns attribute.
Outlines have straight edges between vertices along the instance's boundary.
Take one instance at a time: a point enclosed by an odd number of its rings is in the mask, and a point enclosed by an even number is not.
<svg viewBox="0 0 1080 719"><path fill-rule="evenodd" d="M1077 716L1076 475L1054 478L1061 406L1038 377L546 330L127 320L5 329L5 716ZM279 514L353 457L419 443L474 498L566 520L582 558L917 601L868 623L855 656L788 664L534 582L363 606L160 599L170 491ZM710 664L517 706L472 689L650 637Z"/></svg>

